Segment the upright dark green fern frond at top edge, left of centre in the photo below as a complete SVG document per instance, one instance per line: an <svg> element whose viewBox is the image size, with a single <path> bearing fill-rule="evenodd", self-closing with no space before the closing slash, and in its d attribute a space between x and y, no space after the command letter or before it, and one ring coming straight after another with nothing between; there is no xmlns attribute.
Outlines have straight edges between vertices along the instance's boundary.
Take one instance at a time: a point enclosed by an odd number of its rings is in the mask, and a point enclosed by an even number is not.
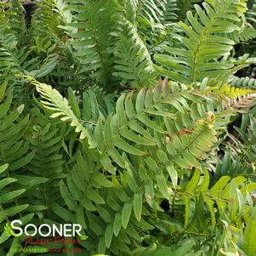
<svg viewBox="0 0 256 256"><path fill-rule="evenodd" d="M71 34L71 43L81 58L81 72L88 72L105 85L110 84L114 62L111 51L115 42L111 32L117 26L117 16L114 15L117 4L115 1L88 1L85 5L71 8L77 12L76 22L71 26L79 29Z"/></svg>

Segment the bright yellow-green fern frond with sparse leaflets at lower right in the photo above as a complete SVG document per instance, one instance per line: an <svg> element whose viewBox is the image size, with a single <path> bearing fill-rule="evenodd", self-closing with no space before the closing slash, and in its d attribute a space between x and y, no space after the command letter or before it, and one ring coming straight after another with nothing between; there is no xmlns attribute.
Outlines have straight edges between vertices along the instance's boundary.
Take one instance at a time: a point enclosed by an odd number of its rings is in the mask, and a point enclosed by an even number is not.
<svg viewBox="0 0 256 256"><path fill-rule="evenodd" d="M244 177L238 176L234 179L230 179L229 176L222 176L212 188L209 188L208 171L205 171L201 185L199 185L199 180L200 172L196 171L183 192L185 196L185 227L189 225L191 198L195 200L200 194L203 196L204 202L206 202L208 210L211 213L213 229L215 228L217 219L216 211L214 211L214 203L216 203L219 208L220 217L229 214L230 219L236 219L237 215L242 217L243 214L246 213L244 210L244 208L246 208L246 202L241 201L242 197L244 197L243 200L245 200L246 197L246 190L242 189L246 182Z"/></svg>

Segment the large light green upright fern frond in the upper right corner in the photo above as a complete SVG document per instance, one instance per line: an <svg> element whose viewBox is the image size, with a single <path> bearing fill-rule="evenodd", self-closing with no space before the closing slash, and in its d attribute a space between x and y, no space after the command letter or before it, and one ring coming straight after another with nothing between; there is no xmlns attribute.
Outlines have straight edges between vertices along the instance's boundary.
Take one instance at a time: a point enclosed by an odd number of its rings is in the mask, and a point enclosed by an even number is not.
<svg viewBox="0 0 256 256"><path fill-rule="evenodd" d="M230 61L219 60L230 54L234 44L224 34L240 30L246 5L224 0L202 5L204 9L195 5L195 15L187 13L189 25L179 22L185 36L179 34L177 38L184 48L166 47L168 54L155 56L161 65L156 70L174 81L190 83L202 81L204 77L225 77L233 66Z"/></svg>

